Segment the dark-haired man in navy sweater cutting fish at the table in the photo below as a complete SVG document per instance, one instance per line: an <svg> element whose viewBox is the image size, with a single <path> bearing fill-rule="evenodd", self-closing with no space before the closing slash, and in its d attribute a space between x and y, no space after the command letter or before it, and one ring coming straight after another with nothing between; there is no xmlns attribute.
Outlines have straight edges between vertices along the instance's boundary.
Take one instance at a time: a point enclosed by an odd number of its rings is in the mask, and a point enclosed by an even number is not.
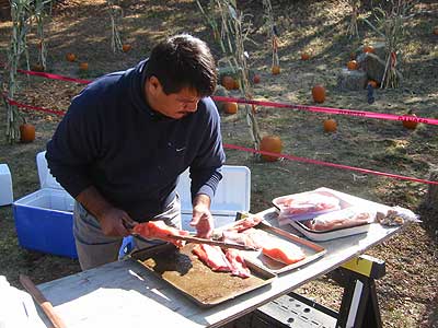
<svg viewBox="0 0 438 328"><path fill-rule="evenodd" d="M211 235L210 200L224 163L220 118L208 97L216 80L207 45L184 34L73 98L46 159L77 200L73 233L83 270L116 260L127 226L137 222L181 227L175 186L187 167L191 224L198 236Z"/></svg>

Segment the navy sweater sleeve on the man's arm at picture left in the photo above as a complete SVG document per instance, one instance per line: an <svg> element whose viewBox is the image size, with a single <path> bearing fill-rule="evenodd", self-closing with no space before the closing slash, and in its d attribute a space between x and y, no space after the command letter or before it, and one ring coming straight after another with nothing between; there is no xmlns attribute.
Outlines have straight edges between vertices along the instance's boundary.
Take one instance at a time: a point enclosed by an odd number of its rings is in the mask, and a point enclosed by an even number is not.
<svg viewBox="0 0 438 328"><path fill-rule="evenodd" d="M73 98L46 152L51 175L74 198L92 185L90 163L101 149L95 110L99 104L93 96L83 96L84 93Z"/></svg>

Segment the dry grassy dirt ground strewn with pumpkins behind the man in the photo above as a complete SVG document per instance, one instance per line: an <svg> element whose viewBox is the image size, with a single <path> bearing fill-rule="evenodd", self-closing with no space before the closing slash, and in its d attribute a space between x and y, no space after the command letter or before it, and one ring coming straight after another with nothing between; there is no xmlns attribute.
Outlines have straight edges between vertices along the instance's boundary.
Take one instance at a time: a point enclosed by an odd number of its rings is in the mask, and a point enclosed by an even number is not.
<svg viewBox="0 0 438 328"><path fill-rule="evenodd" d="M366 90L347 92L337 87L337 75L349 60L351 50L379 40L364 22L359 22L360 37L346 35L349 13L344 2L272 1L279 32L279 75L270 73L270 40L261 14L262 1L238 3L252 14L249 16L253 23L250 35L254 43L247 43L249 65L262 77L262 82L254 85L255 98L313 105L310 90L321 83L327 90L325 107L394 115L412 109L419 117L438 118L438 36L433 34L434 26L438 26L436 1L418 1L414 15L405 24L399 63L404 77L402 85L377 90L376 102L371 105L367 103ZM182 32L208 40L215 57L222 57L195 1L170 0L165 4L158 0L120 1L120 5L124 12L122 38L132 45L132 50L113 54L105 1L60 1L46 30L48 71L93 79L134 66L147 56L157 40ZM369 9L369 4L361 8L372 20ZM10 26L8 21L0 23L1 63L7 60ZM31 31L28 37L31 63L36 60L34 32ZM300 60L303 49L312 52L308 61ZM74 52L77 62L66 61L67 52ZM89 70L79 72L78 62L83 61L89 63ZM20 75L20 87L18 101L66 110L71 97L83 85ZM239 91L231 95L240 96ZM14 199L39 188L35 155L45 149L60 120L59 116L45 113L23 114L36 126L36 140L26 144L0 141L0 163L7 163L12 172ZM399 121L336 115L332 118L337 120L337 132L325 133L322 121L326 117L319 113L272 107L257 108L256 113L262 134L279 136L285 154L426 180L438 167L436 126L420 125L415 130L407 130ZM221 113L221 118L226 143L252 145L242 106L237 115ZM0 121L5 121L4 107L0 110ZM4 131L2 124L1 134ZM324 186L389 206L406 207L420 214L422 223L407 226L367 254L384 260L387 266L387 274L377 281L383 327L438 327L438 211L434 210L438 207L436 203L429 203L431 208L425 206L427 184L288 160L266 163L240 151L227 150L227 159L228 164L251 168L252 212L269 208L275 197ZM41 283L80 270L76 260L21 248L9 206L0 208L0 274L16 286L20 286L19 273L28 274ZM330 277L309 283L298 292L338 309L342 290Z"/></svg>

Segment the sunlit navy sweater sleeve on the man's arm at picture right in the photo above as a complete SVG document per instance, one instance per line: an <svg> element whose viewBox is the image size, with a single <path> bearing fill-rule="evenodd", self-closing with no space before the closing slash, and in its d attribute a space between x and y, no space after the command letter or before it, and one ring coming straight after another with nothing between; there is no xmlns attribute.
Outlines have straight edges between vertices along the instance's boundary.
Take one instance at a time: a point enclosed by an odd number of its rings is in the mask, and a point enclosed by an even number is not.
<svg viewBox="0 0 438 328"><path fill-rule="evenodd" d="M211 98L205 98L205 104L209 116L204 142L191 165L192 200L199 194L214 198L219 181L222 179L221 167L226 161L219 114Z"/></svg>

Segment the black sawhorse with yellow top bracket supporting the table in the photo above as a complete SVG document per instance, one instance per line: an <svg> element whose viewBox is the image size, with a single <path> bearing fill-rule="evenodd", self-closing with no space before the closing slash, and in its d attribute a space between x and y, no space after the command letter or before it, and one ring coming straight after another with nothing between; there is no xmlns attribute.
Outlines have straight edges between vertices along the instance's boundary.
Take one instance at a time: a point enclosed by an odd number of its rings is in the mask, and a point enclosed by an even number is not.
<svg viewBox="0 0 438 328"><path fill-rule="evenodd" d="M330 273L344 288L339 312L289 293L226 327L381 328L374 280L384 273L384 261L361 255Z"/></svg>

